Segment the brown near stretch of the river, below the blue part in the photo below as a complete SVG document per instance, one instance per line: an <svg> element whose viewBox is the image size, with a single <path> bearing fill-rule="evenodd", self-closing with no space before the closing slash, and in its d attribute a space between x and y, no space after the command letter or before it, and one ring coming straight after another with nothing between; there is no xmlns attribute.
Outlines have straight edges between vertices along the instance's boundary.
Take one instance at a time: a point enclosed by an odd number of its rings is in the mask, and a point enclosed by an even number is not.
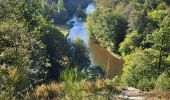
<svg viewBox="0 0 170 100"><path fill-rule="evenodd" d="M108 78L113 78L122 73L124 63L122 59L112 55L106 48L101 47L93 40L89 41L88 46L92 65L102 66Z"/></svg>

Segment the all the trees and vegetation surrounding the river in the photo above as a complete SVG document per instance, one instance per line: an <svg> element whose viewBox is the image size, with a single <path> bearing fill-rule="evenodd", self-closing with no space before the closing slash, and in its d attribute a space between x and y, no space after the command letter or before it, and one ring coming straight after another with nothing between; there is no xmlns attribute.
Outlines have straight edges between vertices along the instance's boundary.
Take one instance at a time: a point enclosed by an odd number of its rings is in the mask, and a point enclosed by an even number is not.
<svg viewBox="0 0 170 100"><path fill-rule="evenodd" d="M84 41L58 29L74 15L124 60L122 75L107 79ZM169 0L0 0L0 100L98 100L101 92L107 100L125 87L169 93Z"/></svg>

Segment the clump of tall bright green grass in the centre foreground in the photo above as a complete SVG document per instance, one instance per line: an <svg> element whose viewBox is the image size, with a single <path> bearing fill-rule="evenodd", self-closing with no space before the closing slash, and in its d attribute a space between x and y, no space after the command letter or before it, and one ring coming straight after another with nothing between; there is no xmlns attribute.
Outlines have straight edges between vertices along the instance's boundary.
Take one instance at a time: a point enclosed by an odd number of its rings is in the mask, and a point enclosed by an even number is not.
<svg viewBox="0 0 170 100"><path fill-rule="evenodd" d="M79 68L64 70L60 75L60 80L66 84L64 94L67 96L67 98L82 98L81 92L83 91L83 87L81 82L86 80L86 76Z"/></svg>

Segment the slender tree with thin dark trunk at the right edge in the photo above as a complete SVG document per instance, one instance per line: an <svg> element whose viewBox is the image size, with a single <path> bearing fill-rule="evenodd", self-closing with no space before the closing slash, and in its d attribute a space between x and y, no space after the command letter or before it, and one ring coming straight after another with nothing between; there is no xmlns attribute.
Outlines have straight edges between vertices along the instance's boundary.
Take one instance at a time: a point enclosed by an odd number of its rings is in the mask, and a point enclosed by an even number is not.
<svg viewBox="0 0 170 100"><path fill-rule="evenodd" d="M170 17L164 18L160 29L155 30L150 36L152 48L159 50L159 68L162 70L162 58L170 53Z"/></svg>

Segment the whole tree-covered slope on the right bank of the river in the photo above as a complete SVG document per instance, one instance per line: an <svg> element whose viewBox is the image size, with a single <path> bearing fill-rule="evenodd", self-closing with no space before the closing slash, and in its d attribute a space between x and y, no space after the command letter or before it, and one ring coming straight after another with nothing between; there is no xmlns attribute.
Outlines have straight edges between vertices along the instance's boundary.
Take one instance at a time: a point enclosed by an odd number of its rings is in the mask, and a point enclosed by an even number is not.
<svg viewBox="0 0 170 100"><path fill-rule="evenodd" d="M170 89L169 0L100 0L87 27L91 38L123 57L124 84Z"/></svg>

